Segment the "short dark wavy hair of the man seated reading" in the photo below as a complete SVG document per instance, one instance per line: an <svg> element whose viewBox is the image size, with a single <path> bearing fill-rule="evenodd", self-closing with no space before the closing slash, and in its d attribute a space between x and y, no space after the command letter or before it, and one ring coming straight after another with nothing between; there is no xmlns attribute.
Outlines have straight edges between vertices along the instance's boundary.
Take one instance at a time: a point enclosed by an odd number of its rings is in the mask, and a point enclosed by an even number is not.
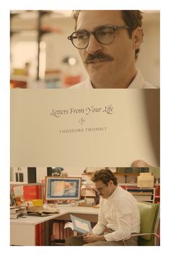
<svg viewBox="0 0 170 256"><path fill-rule="evenodd" d="M107 184L109 181L112 181L115 186L117 186L117 177L109 170L109 168L101 169L95 171L94 175L91 178L92 182L102 181L104 184Z"/></svg>

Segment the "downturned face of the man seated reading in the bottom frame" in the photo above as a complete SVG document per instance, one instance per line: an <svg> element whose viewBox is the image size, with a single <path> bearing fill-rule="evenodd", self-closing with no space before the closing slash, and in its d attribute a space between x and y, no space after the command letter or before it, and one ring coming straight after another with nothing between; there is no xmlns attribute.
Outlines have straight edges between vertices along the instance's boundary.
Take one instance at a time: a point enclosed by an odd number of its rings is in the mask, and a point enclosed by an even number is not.
<svg viewBox="0 0 170 256"><path fill-rule="evenodd" d="M115 189L114 184L112 181L109 181L108 184L104 184L101 180L95 182L95 189L99 192L99 195L103 198L107 198L112 195L112 192Z"/></svg>

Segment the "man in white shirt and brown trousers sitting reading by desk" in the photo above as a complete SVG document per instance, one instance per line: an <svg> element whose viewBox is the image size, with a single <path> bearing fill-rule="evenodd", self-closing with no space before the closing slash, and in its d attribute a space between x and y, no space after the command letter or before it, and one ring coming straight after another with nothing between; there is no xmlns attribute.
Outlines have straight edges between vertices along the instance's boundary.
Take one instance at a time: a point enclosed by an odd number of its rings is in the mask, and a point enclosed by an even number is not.
<svg viewBox="0 0 170 256"><path fill-rule="evenodd" d="M130 234L140 231L140 213L135 197L117 184L117 178L109 169L96 171L91 178L99 195L99 218L92 234L72 236L66 245L121 246L138 245L138 236Z"/></svg>

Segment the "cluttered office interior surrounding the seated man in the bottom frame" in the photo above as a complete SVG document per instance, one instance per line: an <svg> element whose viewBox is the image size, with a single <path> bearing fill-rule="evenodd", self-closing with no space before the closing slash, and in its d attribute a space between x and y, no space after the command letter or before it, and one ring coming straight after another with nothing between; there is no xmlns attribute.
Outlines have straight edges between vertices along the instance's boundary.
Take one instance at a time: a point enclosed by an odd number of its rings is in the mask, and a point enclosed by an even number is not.
<svg viewBox="0 0 170 256"><path fill-rule="evenodd" d="M33 246L63 246L67 237L77 233L66 223L71 221L71 215L90 221L91 227L97 223L99 213L99 194L95 190L91 176L94 171L109 168L117 176L118 184L130 192L137 200L139 208L143 205L156 212L146 211L153 219L152 233L156 236L144 245L160 245L159 205L160 205L160 169L157 167L12 167L10 170L10 244ZM72 191L62 190L60 196L53 199L48 196L49 179L65 180L75 179L79 183L80 195L63 197ZM55 183L56 184L56 183ZM68 185L68 183L67 183ZM73 187L72 187L73 188ZM54 187L53 187L54 189ZM55 190L55 189L54 189ZM63 192L64 191L64 192ZM76 190L75 190L76 191ZM55 190L56 192L56 190ZM51 192L53 194L53 192ZM59 195L59 194L58 194ZM79 198L77 198L79 197ZM66 199L65 199L66 198ZM21 209L20 212L14 209ZM50 214L49 214L50 211ZM47 213L48 212L48 213ZM42 216L42 214L45 214ZM143 213L140 213L143 221ZM156 216L155 216L156 214ZM145 218L146 218L145 216ZM147 224L148 225L148 224ZM149 225L148 225L149 226ZM143 229L143 228L141 228ZM146 231L145 231L146 233ZM148 232L147 232L148 233ZM153 239L154 238L154 239ZM151 241L152 240L152 241ZM143 239L141 240L143 242ZM143 245L143 244L139 244Z"/></svg>

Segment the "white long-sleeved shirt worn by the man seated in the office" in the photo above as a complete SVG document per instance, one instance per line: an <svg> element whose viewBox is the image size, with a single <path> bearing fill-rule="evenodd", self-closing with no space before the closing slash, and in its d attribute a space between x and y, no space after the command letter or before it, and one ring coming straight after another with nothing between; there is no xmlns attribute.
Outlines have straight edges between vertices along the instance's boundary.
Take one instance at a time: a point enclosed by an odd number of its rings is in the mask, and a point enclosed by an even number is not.
<svg viewBox="0 0 170 256"><path fill-rule="evenodd" d="M140 232L140 213L135 197L122 187L117 186L115 192L107 199L102 198L99 204L99 218L92 229L93 234L100 235L104 230L112 229L112 233L104 234L109 241L121 241L123 236Z"/></svg>

